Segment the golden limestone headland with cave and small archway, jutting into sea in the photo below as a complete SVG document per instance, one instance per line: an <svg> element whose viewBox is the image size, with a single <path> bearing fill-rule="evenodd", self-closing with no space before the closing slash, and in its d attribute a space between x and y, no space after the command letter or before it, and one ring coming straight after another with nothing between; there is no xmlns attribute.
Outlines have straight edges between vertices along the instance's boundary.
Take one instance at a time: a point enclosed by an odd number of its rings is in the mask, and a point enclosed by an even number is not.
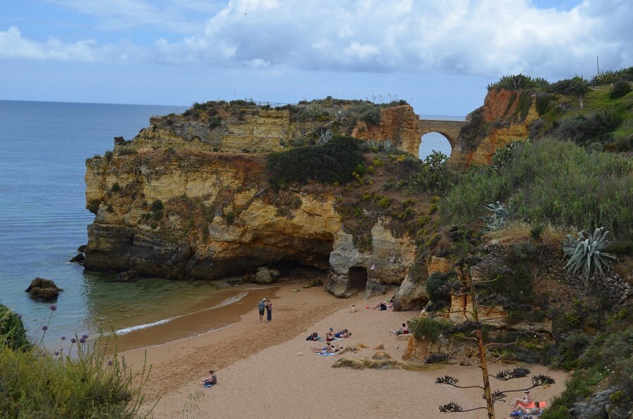
<svg viewBox="0 0 633 419"><path fill-rule="evenodd" d="M415 114L408 105L392 109L375 127L353 112L243 103L153 117L131 141L115 138L113 152L87 160L87 208L96 217L84 266L212 279L293 261L329 271L327 289L339 297L399 285L418 252L416 210L401 194L379 192L394 176L408 177L417 160L407 157L403 170L404 155L368 155L364 176L373 179L357 174L354 190L312 182L280 189L266 154L314 141L324 123L408 138Z"/></svg>

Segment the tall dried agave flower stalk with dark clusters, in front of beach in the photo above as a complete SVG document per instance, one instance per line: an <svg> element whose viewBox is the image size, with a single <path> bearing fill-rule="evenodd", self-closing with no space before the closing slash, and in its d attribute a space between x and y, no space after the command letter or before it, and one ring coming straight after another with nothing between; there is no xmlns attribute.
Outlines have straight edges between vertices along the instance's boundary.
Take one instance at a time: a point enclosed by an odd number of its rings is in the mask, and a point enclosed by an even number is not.
<svg viewBox="0 0 633 419"><path fill-rule="evenodd" d="M495 278L493 280L487 280L487 281L476 281L475 283L475 281L473 281L473 276L471 275L471 266L475 264L476 262L477 260L473 257L462 259L459 262L460 278L463 285L466 285L468 289L465 292L456 294L456 295L468 295L471 297L471 303L473 307L472 311L469 313L471 318L468 319L468 316L466 316L466 321L463 321L462 323L458 323L454 325L452 328L447 330L446 333L458 334L459 337L463 339L473 340L477 342L477 346L479 350L478 359L477 358L468 359L468 360L465 359L461 361L477 361L479 363L479 366L481 368L483 385L460 386L458 385L459 380L450 375L445 375L444 377L438 377L435 380L435 382L437 384L452 385L453 387L458 387L461 389L468 389L468 388L481 389L483 392L483 399L485 399L486 401L486 406L478 406L478 407L467 408L467 409L462 408L462 406L452 401L449 404L440 406L440 412L456 413L456 412L469 412L469 411L476 411L480 409L486 409L488 413L488 418L494 419L494 403L499 400L504 400L506 398L506 392L520 392L526 388L531 389L531 388L539 387L542 385L551 385L551 384L554 384L554 379L549 377L548 375L542 375L542 374L534 375L532 377L532 385L530 387L524 387L521 389L496 390L494 392L491 392L490 390L491 377L499 381L508 381L508 380L513 380L514 378L527 377L530 374L530 370L528 368L519 367L519 368L514 368L513 370L499 371L499 373L497 373L496 375L490 375L488 373L488 363L499 361L504 356L503 353L493 354L492 349L499 348L499 347L509 347L511 345L517 344L518 341L511 342L511 343L494 343L494 342L485 343L484 342L484 338L482 335L483 322L495 320L497 318L484 318L480 320L478 311L480 308L487 307L487 306L478 304L477 298L476 298L477 295L475 295L475 285L480 284L480 283L485 283L485 282L497 281L497 279ZM468 313L468 311L459 311L459 312L465 315L466 313ZM491 355L494 355L494 359L490 359Z"/></svg>

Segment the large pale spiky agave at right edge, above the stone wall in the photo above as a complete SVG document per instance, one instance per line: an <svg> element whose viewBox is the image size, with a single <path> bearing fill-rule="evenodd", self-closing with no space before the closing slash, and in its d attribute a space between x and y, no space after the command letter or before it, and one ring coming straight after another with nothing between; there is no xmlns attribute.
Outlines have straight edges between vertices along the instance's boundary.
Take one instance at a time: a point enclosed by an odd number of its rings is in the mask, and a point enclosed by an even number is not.
<svg viewBox="0 0 633 419"><path fill-rule="evenodd" d="M613 254L603 252L613 243L613 240L607 240L608 234L604 227L600 227L596 228L593 234L587 233L587 230L579 231L577 238L568 234L568 240L563 241L563 252L569 257L565 268L572 275L582 269L585 285L588 285L589 277L593 273L603 276L603 266L610 266L608 259L617 259Z"/></svg>

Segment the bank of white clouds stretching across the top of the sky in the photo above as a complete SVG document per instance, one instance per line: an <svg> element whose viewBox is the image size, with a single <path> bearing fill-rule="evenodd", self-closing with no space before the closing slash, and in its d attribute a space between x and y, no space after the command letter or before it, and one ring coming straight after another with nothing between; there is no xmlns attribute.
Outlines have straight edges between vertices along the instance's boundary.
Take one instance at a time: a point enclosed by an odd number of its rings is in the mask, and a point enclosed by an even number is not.
<svg viewBox="0 0 633 419"><path fill-rule="evenodd" d="M51 0L95 17L101 27L174 25L203 0ZM496 76L589 77L633 65L633 1L584 0L569 11L530 0L229 0L204 29L179 42L158 39L148 50L37 43L16 28L0 32L0 55L58 60L148 59L171 65L298 68L334 72L454 72ZM215 14L214 14L215 13ZM110 23L108 23L110 22ZM123 23L121 23L123 25ZM197 26L196 26L197 27ZM8 40L10 39L10 40ZM134 40L132 40L134 42ZM151 51L150 51L151 50Z"/></svg>

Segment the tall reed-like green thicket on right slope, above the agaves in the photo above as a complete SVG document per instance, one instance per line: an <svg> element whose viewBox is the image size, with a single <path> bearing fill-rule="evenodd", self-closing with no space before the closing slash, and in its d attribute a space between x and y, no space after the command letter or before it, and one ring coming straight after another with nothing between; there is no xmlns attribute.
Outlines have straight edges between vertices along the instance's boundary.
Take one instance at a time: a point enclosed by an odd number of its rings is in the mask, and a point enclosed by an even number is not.
<svg viewBox="0 0 633 419"><path fill-rule="evenodd" d="M474 168L463 174L440 202L450 223L471 223L484 205L512 198L513 217L529 224L605 226L622 240L633 238L633 160L612 153L587 153L573 143L543 139L513 149L498 170Z"/></svg>

